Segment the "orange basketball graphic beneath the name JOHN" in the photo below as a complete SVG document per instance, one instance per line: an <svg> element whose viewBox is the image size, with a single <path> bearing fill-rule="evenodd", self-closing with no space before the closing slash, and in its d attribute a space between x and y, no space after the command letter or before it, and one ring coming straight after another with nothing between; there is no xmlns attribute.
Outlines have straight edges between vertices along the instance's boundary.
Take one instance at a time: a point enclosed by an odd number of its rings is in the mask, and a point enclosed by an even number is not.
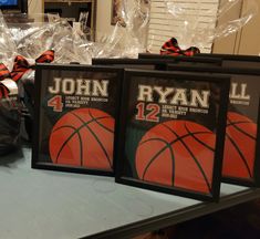
<svg viewBox="0 0 260 239"><path fill-rule="evenodd" d="M114 118L100 110L69 112L51 132L49 149L53 164L112 170L114 124Z"/></svg>

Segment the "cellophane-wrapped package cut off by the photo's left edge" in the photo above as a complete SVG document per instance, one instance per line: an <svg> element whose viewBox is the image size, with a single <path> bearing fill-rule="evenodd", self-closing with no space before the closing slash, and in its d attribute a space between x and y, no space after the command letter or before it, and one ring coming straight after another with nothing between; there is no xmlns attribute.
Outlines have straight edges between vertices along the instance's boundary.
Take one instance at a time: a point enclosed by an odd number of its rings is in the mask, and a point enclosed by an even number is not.
<svg viewBox="0 0 260 239"><path fill-rule="evenodd" d="M11 77L17 48L0 12L0 156L19 145L21 105Z"/></svg>

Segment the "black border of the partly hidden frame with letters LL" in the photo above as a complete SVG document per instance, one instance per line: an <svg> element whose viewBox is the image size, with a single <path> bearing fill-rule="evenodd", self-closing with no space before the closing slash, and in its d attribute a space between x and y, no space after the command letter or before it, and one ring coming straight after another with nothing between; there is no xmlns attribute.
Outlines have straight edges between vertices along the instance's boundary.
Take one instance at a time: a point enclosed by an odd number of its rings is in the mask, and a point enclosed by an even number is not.
<svg viewBox="0 0 260 239"><path fill-rule="evenodd" d="M246 56L247 59L247 56ZM250 58L249 58L250 59ZM254 116L254 123L257 125L257 133L256 133L256 153L254 153L254 160L253 160L253 169L251 173L251 178L247 179L245 177L235 177L230 175L223 175L222 181L228 184L235 184L240 186L247 186L247 187L260 187L260 148L258 145L260 144L260 86L257 84L257 81L260 82L260 70L259 69L240 69L240 67L199 67L199 66L181 66L181 65L174 65L169 64L167 66L167 70L174 71L174 72L188 72L188 73L205 73L205 74L214 74L214 75L229 75L231 76L231 83L232 81L236 81L236 76L240 75L240 79L242 79L243 82L247 82L247 84L250 84L251 89L256 91L256 95L258 94L258 98L254 101L254 107L257 107ZM247 76L250 76L247 79ZM229 103L230 107L231 103ZM252 105L252 103L250 104ZM242 107L242 106L240 106ZM238 110L240 110L239 105L237 106ZM228 110L229 111L229 110ZM242 110L241 110L242 111ZM243 110L245 111L245 110ZM248 116L248 115L246 115ZM246 144L247 141L245 141ZM249 142L248 142L249 143Z"/></svg>

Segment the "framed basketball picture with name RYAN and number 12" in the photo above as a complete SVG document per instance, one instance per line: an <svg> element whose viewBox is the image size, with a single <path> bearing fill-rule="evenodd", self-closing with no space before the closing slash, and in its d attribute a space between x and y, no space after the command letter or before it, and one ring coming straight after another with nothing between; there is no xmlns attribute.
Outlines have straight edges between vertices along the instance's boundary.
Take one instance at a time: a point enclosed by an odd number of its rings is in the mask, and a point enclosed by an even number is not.
<svg viewBox="0 0 260 239"><path fill-rule="evenodd" d="M126 70L116 181L218 200L228 77Z"/></svg>

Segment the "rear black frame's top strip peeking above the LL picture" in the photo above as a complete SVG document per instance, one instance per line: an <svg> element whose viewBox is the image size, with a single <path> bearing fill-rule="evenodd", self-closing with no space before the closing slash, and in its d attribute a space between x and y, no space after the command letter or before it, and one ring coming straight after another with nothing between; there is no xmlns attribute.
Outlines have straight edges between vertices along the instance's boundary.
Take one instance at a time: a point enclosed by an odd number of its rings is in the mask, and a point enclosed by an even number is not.
<svg viewBox="0 0 260 239"><path fill-rule="evenodd" d="M241 67L241 69L259 69L260 67L260 56L257 56L257 55L199 53L199 54L196 54L196 56L221 59L222 60L221 66L223 67Z"/></svg>

